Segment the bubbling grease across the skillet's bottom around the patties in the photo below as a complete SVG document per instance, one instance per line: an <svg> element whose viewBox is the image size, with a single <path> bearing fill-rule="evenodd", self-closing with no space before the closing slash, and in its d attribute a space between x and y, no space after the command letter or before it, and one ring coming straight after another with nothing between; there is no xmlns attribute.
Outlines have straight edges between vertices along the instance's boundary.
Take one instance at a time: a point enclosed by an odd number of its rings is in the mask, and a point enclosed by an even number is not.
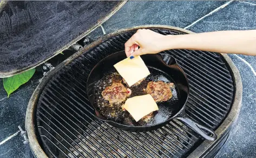
<svg viewBox="0 0 256 158"><path fill-rule="evenodd" d="M159 107L158 111L154 112L154 115L147 122L138 121L136 122L133 117L128 113L128 111L123 111L121 106L125 103L125 101L119 105L111 106L108 101L104 100L102 97L102 91L110 86L112 83L119 82L123 83L124 87L132 90L132 95L130 97L145 95L147 84L150 81L163 81L163 82L173 82L172 78L163 73L162 71L156 70L154 68L149 68L150 75L146 78L146 80L142 81L141 84L128 87L126 84L122 82L122 77L117 73L117 71L113 70L106 76L104 76L96 85L95 85L95 104L98 107L99 112L102 116L105 117L106 120L111 120L116 123L128 125L128 126L151 126L154 124L161 123L163 121L168 120L172 117L172 114L175 114L175 107L179 107L178 104L178 89L172 89L172 98L166 102L157 103ZM175 84L175 83L174 83Z"/></svg>

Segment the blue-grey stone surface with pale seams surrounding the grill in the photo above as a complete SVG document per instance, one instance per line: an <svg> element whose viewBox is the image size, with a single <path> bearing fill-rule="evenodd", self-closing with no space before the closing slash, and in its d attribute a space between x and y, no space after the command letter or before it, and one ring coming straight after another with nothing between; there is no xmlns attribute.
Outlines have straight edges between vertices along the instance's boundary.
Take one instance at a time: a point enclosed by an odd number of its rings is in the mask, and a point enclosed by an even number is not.
<svg viewBox="0 0 256 158"><path fill-rule="evenodd" d="M144 24L185 28L206 16L187 29L194 32L256 29L255 1L231 2L225 8L208 15L225 3L227 1L129 1L102 26L107 34ZM90 36L97 39L102 36L102 30L96 29ZM237 66L242 78L242 107L228 141L216 157L256 157L256 76L252 71L252 69L256 70L256 57L244 55L229 55L229 57ZM36 73L9 98L6 97L0 80L0 142L15 134L18 125L24 129L25 111L41 77L42 74ZM0 144L0 157L30 156L29 146L23 144L19 135Z"/></svg>

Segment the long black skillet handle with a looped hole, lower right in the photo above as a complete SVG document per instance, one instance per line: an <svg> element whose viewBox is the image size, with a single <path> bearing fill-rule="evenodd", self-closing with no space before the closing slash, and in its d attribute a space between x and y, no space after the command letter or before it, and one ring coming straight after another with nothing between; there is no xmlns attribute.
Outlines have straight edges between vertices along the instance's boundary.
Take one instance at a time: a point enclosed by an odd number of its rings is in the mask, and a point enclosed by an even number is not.
<svg viewBox="0 0 256 158"><path fill-rule="evenodd" d="M187 123L192 129L194 129L198 134L200 134L202 137L204 137L206 140L209 141L215 141L217 139L217 135L214 133L213 130L204 127L198 123L195 123L191 119L188 119L188 117L175 117L175 119L178 119L182 122ZM208 136L202 129L209 131L209 133L212 134L212 136Z"/></svg>

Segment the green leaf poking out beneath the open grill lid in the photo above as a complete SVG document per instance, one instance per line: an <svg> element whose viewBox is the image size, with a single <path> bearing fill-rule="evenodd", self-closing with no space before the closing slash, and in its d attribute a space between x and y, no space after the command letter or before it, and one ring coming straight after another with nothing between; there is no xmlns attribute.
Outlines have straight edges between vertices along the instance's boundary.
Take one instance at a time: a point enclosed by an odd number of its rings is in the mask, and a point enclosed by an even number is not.
<svg viewBox="0 0 256 158"><path fill-rule="evenodd" d="M22 74L3 78L4 89L8 94L8 98L12 92L19 88L19 86L29 81L29 79L34 75L35 70L36 69L31 69Z"/></svg>

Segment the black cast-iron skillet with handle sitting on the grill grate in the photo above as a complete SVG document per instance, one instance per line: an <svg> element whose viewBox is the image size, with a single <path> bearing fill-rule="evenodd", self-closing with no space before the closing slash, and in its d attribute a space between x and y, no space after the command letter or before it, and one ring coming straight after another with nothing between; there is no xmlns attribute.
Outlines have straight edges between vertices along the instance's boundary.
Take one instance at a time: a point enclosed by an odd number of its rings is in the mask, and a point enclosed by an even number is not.
<svg viewBox="0 0 256 158"><path fill-rule="evenodd" d="M162 74L160 76L158 75L158 77L155 75L155 73L151 74L153 75L152 79L154 81L168 80L175 83L176 101L172 101L171 99L170 101L157 103L159 106L159 110L157 111L158 113L154 115L154 118L151 119L152 121L145 126L134 126L134 124L133 126L130 126L124 122L106 120L106 118L100 114L99 107L95 104L95 84L99 82L106 74L108 74L109 71L113 71L113 65L120 62L124 58L126 58L124 51L116 52L115 54L107 56L95 65L88 77L87 94L90 103L95 109L95 114L100 120L106 121L111 124L111 126L120 128L122 130L142 132L160 128L170 122L170 120L177 119L187 123L206 140L216 140L217 135L213 130L201 126L187 117L185 113L185 104L189 94L188 80L183 70L176 63L175 59L168 54L148 54L142 55L141 58L149 68L149 71L157 71L158 74ZM208 136L202 129L208 131L211 136Z"/></svg>

